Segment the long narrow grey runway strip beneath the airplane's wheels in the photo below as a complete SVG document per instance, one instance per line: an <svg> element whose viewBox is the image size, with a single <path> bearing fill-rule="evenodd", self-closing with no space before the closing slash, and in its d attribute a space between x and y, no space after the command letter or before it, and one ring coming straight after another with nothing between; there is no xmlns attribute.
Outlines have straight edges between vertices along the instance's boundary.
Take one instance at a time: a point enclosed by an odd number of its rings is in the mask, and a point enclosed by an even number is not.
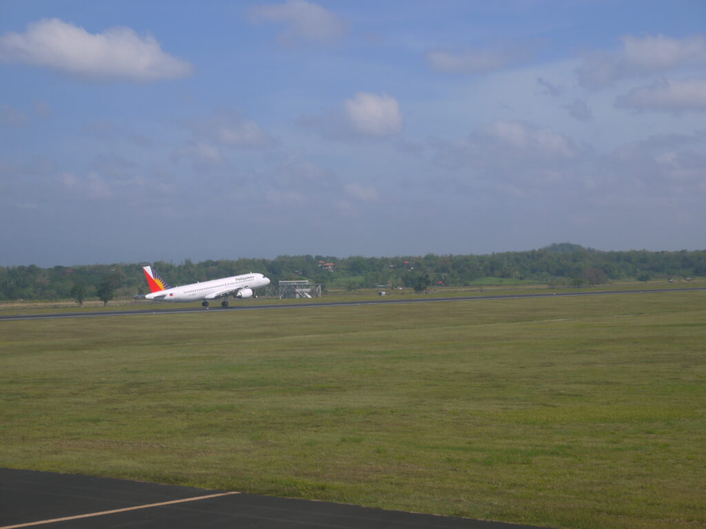
<svg viewBox="0 0 706 529"><path fill-rule="evenodd" d="M666 292L686 292L705 291L706 288L654 288L644 290L628 291L600 291L600 292L562 292L562 293L533 293L533 294L510 294L501 296L456 296L441 298L405 298L405 299L380 299L365 301L319 301L301 303L277 303L261 305L259 303L249 303L244 301L241 305L230 306L228 308L213 307L205 309L203 307L165 307L160 309L128 309L128 310L95 310L90 312L54 312L47 314L25 314L25 315L2 315L0 322L10 322L18 320L54 320L59 318L85 318L85 317L118 317L118 316L140 316L140 315L169 315L169 314L218 314L229 310L274 310L292 308L316 308L316 307L345 307L351 305L400 305L404 303L441 303L450 301L481 301L481 300L503 300L503 299L527 299L527 298L566 298L576 296L611 296L616 294L647 294Z"/></svg>

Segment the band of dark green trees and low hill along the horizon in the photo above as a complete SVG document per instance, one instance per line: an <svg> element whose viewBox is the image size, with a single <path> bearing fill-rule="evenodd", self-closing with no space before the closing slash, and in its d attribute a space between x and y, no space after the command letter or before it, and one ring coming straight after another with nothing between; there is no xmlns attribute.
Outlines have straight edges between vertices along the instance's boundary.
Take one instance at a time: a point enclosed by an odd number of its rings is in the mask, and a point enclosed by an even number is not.
<svg viewBox="0 0 706 529"><path fill-rule="evenodd" d="M0 299L61 299L133 296L145 293L142 266L147 263L40 268L0 267ZM706 276L706 250L604 252L580 245L552 244L539 250L489 255L423 257L346 257L281 255L273 260L208 260L179 265L152 263L176 286L246 272L262 272L273 281L309 279L329 288L389 285L423 290L429 286L548 283L567 286L614 280ZM110 290L112 288L112 291Z"/></svg>

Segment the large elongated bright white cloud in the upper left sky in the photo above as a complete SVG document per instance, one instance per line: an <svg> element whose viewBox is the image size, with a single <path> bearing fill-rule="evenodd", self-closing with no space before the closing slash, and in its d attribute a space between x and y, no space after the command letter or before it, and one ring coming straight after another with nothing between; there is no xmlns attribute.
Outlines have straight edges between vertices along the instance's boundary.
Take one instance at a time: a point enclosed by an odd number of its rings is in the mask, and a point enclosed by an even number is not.
<svg viewBox="0 0 706 529"><path fill-rule="evenodd" d="M0 60L44 66L95 80L155 81L191 74L191 64L162 51L151 35L130 28L92 34L57 18L0 37Z"/></svg>

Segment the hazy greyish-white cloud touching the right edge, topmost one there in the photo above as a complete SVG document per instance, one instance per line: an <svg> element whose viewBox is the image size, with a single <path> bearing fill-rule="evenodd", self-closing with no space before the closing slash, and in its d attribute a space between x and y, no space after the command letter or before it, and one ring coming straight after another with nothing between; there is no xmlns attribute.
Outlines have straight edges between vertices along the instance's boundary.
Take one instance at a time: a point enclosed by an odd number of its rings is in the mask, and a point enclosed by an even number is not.
<svg viewBox="0 0 706 529"><path fill-rule="evenodd" d="M706 66L706 39L695 35L673 39L664 35L622 37L620 51L592 51L578 68L584 87L601 88L623 78L643 77L681 66Z"/></svg>

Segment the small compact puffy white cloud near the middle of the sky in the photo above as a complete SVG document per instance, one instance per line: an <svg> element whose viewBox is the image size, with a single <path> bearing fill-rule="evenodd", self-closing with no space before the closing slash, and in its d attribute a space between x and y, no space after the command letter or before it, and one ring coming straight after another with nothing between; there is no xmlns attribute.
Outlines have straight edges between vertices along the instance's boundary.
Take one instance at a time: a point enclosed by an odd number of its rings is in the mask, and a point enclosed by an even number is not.
<svg viewBox="0 0 706 529"><path fill-rule="evenodd" d="M400 104L387 94L359 92L345 100L344 109L349 126L362 135L383 137L402 130Z"/></svg>

